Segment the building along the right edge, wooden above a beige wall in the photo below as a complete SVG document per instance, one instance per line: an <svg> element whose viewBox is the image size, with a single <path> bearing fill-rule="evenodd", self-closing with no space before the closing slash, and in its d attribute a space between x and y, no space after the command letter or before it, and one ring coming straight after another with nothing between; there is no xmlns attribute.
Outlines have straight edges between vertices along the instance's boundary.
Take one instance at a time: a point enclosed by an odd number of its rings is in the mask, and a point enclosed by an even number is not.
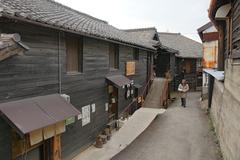
<svg viewBox="0 0 240 160"><path fill-rule="evenodd" d="M240 159L239 13L239 0L211 0L209 17L219 32L219 42L217 71L209 73L209 109L225 160Z"/></svg>

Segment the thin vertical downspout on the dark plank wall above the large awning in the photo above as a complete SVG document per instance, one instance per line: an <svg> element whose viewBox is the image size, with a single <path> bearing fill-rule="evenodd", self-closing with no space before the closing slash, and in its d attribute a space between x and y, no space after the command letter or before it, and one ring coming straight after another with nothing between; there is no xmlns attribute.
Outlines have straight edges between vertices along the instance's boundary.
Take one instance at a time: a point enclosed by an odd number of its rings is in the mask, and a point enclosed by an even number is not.
<svg viewBox="0 0 240 160"><path fill-rule="evenodd" d="M61 31L58 32L58 93L62 94Z"/></svg>

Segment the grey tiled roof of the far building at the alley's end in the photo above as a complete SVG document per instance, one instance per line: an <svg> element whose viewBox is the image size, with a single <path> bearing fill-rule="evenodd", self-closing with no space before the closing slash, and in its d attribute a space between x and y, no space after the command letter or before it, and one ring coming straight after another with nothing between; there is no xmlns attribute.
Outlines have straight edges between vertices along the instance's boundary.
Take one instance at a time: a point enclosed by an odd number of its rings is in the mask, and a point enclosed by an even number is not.
<svg viewBox="0 0 240 160"><path fill-rule="evenodd" d="M158 33L159 39L164 46L178 51L177 57L201 58L202 44L187 38L180 33Z"/></svg>

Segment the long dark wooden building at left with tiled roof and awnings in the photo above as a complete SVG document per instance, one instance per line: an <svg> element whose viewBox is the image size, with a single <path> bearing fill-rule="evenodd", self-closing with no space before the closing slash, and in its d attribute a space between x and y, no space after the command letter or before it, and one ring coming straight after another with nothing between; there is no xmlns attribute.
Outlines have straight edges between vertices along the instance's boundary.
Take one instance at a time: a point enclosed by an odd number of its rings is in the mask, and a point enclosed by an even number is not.
<svg viewBox="0 0 240 160"><path fill-rule="evenodd" d="M70 160L146 96L154 44L103 20L52 0L1 0L0 33L22 44L0 60L1 160Z"/></svg>

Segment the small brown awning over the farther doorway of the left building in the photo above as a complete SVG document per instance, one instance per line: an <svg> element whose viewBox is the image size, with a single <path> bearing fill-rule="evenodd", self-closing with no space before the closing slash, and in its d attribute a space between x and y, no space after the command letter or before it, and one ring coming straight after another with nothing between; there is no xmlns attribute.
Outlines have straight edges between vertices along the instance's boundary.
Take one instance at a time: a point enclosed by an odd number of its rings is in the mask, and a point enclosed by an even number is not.
<svg viewBox="0 0 240 160"><path fill-rule="evenodd" d="M113 75L113 76L108 76L106 77L108 81L116 85L117 87L124 87L125 85L128 85L132 83L130 79L123 75Z"/></svg>

